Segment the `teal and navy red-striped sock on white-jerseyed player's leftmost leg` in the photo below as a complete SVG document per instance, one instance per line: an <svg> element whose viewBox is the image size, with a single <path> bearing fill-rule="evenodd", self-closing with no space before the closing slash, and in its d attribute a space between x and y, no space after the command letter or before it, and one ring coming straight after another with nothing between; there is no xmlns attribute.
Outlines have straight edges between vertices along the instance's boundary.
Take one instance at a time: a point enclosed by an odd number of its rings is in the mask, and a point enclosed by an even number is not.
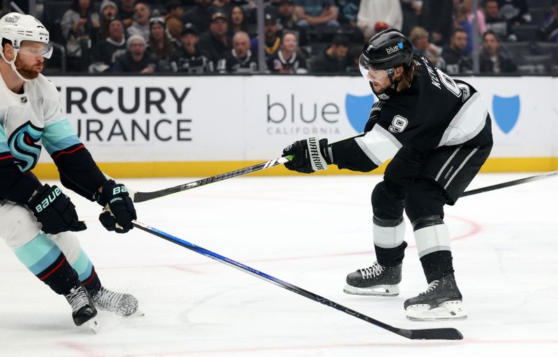
<svg viewBox="0 0 558 357"><path fill-rule="evenodd" d="M80 280L66 256L45 233L14 249L15 256L52 291L68 295Z"/></svg>

